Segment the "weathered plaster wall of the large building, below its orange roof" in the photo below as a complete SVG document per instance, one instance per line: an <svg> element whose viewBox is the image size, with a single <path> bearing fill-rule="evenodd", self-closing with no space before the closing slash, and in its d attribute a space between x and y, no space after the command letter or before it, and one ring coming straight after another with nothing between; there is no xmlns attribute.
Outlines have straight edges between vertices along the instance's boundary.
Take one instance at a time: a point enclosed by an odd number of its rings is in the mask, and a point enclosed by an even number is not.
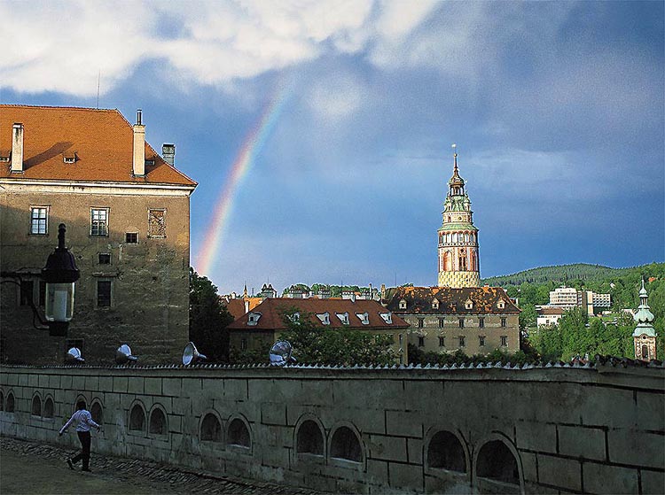
<svg viewBox="0 0 665 495"><path fill-rule="evenodd" d="M17 187L0 195L0 268L24 274L32 282L35 304L43 306L39 273L58 245L59 223L65 223L66 246L81 272L74 318L66 338L49 336L34 328L20 288L3 283L0 322L12 331L3 332L0 360L46 364L62 360L76 345L88 362L112 364L118 346L130 343L144 362L179 362L189 340L190 191L45 189ZM48 209L48 234L29 234L31 205ZM90 235L90 208L108 209L107 236ZM165 236L149 236L150 210L166 211ZM127 233L137 234L136 244L126 242ZM110 306L99 304L99 281L110 283Z"/></svg>

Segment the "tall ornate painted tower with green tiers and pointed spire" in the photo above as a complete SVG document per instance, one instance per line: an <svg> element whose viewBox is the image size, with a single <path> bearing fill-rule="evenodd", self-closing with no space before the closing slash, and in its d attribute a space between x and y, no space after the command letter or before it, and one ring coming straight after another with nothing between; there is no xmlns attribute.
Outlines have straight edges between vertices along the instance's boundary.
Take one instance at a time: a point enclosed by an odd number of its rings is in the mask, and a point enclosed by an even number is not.
<svg viewBox="0 0 665 495"><path fill-rule="evenodd" d="M453 149L456 145L452 145ZM454 167L448 182L448 196L443 204L443 222L439 228L439 287L478 287L481 267L478 259L478 229L473 227L471 201L459 176L458 153L453 153Z"/></svg>

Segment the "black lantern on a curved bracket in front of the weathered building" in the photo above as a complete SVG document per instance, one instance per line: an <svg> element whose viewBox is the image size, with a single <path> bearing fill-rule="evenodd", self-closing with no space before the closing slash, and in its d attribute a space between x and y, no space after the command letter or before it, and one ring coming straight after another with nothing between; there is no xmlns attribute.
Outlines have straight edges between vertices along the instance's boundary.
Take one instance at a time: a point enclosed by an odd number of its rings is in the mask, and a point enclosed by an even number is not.
<svg viewBox="0 0 665 495"><path fill-rule="evenodd" d="M49 255L42 269L41 278L46 282L44 318L40 316L32 296L27 298L33 311L35 329L48 329L51 336L66 336L69 321L74 314L74 282L81 276L74 255L65 247L65 232L65 224L61 223L58 226L58 247ZM11 282L18 286L21 286L22 276L25 275L20 272L0 272L0 277L15 279L3 283ZM35 321L39 321L41 326L37 326Z"/></svg>

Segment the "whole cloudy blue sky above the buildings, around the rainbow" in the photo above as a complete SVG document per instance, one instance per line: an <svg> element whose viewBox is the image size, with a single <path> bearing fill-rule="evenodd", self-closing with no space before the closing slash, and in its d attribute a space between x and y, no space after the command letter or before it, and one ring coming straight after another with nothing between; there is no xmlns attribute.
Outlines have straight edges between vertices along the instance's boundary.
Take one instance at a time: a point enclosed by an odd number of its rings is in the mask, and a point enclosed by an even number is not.
<svg viewBox="0 0 665 495"><path fill-rule="evenodd" d="M3 2L0 102L142 108L192 261L243 139L220 292L436 283L451 143L481 276L665 259L662 2Z"/></svg>

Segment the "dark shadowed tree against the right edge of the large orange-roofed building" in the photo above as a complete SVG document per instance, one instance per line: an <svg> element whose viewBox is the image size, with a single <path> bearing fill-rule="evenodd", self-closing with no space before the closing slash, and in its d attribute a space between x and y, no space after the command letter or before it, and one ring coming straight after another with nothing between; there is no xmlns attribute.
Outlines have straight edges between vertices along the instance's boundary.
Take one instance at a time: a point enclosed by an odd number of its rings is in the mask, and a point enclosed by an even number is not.
<svg viewBox="0 0 665 495"><path fill-rule="evenodd" d="M229 360L229 333L226 326L233 321L207 277L190 267L190 340L210 361Z"/></svg>

